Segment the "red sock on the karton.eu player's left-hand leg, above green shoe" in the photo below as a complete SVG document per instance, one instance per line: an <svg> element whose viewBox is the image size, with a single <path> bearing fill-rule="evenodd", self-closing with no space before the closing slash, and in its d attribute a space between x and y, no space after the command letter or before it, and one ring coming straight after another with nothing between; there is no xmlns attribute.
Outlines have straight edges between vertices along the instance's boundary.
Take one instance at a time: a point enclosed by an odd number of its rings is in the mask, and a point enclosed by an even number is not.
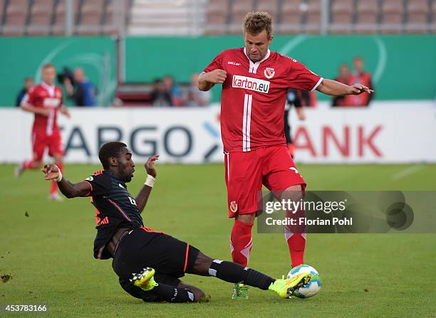
<svg viewBox="0 0 436 318"><path fill-rule="evenodd" d="M253 240L251 237L251 228L254 223L244 223L239 220L234 221L232 235L230 237L230 251L232 260L241 266L246 267L250 258Z"/></svg>

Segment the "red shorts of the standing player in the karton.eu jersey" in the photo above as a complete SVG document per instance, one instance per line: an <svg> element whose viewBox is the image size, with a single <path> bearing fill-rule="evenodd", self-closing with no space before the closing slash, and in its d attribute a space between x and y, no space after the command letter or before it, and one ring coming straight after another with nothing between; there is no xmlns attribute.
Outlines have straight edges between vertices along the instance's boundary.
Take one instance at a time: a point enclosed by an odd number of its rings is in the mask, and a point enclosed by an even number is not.
<svg viewBox="0 0 436 318"><path fill-rule="evenodd" d="M259 210L262 184L269 191L284 191L306 181L296 169L286 146L262 147L224 155L229 218Z"/></svg>

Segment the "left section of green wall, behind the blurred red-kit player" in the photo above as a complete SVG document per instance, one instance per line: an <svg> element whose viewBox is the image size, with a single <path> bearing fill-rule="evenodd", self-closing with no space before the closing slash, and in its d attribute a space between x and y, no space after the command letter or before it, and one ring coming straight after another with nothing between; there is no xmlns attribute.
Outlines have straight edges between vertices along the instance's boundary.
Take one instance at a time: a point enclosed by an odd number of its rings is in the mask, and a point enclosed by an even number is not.
<svg viewBox="0 0 436 318"><path fill-rule="evenodd" d="M0 38L0 105L15 105L26 76L38 82L40 68L53 63L61 71L81 67L98 88L98 103L107 105L116 88L115 41L110 37ZM67 100L67 105L71 103Z"/></svg>

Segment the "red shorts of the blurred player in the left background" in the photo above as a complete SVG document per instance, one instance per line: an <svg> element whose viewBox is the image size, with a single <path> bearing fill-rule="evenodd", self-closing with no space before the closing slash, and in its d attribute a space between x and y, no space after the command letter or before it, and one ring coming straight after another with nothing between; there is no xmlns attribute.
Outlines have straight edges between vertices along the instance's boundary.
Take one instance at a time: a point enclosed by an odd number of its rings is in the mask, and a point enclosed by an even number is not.
<svg viewBox="0 0 436 318"><path fill-rule="evenodd" d="M53 129L53 133L51 135L47 135L46 132L33 130L33 160L41 161L46 148L48 148L48 154L51 157L53 157L54 154L65 154L62 147L61 132L59 132L59 129Z"/></svg>

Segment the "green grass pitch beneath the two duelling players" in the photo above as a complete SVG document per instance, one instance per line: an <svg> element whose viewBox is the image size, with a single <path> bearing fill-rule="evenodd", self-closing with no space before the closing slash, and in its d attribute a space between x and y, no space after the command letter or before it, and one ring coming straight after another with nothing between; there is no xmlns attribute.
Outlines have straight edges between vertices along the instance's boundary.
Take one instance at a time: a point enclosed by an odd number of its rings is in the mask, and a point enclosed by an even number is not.
<svg viewBox="0 0 436 318"><path fill-rule="evenodd" d="M99 166L67 165L80 181ZM432 190L436 166L299 166L310 190ZM93 259L94 209L88 198L48 201L37 171L20 179L0 166L0 304L48 304L38 317L436 317L436 235L308 235L306 263L323 289L310 300L281 300L251 288L230 300L232 285L212 277L185 281L212 296L204 304L146 304L118 285L110 261ZM137 164L129 190L145 179ZM25 216L25 213L28 216ZM145 225L186 240L213 258L229 259L222 164L160 165ZM256 232L256 230L254 230ZM254 234L250 266L281 277L290 267L283 235ZM4 313L0 313L4 317ZM21 314L10 314L21 317ZM28 317L36 317L28 314Z"/></svg>

